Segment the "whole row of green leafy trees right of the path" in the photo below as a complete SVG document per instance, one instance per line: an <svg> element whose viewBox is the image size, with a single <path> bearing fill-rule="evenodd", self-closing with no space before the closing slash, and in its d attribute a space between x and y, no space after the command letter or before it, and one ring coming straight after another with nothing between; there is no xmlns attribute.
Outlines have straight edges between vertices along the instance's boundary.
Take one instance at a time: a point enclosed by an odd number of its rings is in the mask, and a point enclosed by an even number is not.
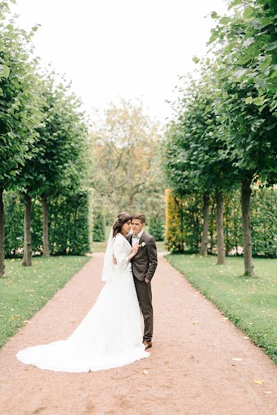
<svg viewBox="0 0 277 415"><path fill-rule="evenodd" d="M251 184L277 181L277 3L232 0L197 79L185 78L168 126L167 173L179 196L202 195L202 255L207 254L211 194L217 212L218 263L224 263L223 194L241 188L244 272L253 275ZM184 78L182 78L184 79Z"/></svg>

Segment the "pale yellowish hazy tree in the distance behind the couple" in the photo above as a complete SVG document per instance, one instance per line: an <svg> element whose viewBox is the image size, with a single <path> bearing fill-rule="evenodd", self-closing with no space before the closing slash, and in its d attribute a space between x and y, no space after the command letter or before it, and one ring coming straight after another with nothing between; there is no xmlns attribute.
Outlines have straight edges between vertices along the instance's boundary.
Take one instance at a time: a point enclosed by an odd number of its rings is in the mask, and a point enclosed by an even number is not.
<svg viewBox="0 0 277 415"><path fill-rule="evenodd" d="M141 103L125 100L111 104L99 125L91 131L95 209L109 221L126 210L163 214L159 125L145 115Z"/></svg>

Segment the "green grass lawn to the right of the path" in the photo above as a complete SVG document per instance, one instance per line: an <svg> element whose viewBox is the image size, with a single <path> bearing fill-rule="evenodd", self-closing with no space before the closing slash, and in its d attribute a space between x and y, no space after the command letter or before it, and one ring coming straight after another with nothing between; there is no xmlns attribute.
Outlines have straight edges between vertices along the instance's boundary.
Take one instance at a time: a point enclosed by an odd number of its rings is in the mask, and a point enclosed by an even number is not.
<svg viewBox="0 0 277 415"><path fill-rule="evenodd" d="M166 255L188 281L220 308L277 364L277 259L254 259L256 277L245 277L243 258Z"/></svg>

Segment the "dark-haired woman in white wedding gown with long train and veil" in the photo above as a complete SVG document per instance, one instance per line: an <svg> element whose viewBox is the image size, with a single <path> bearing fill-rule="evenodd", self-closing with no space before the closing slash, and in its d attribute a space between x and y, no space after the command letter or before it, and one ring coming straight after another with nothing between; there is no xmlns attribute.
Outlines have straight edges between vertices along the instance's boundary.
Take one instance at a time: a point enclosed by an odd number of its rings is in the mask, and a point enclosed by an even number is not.
<svg viewBox="0 0 277 415"><path fill-rule="evenodd" d="M78 373L121 367L148 358L130 262L139 244L132 248L125 239L130 229L129 214L120 213L107 243L102 270L106 284L77 329L66 340L19 351L18 360L40 369Z"/></svg>

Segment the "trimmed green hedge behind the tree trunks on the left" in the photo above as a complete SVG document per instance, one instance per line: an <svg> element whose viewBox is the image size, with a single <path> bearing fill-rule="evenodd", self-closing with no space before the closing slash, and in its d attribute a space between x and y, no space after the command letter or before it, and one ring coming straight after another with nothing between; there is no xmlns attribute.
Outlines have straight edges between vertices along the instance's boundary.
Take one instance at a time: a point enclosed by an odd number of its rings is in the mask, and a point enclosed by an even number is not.
<svg viewBox="0 0 277 415"><path fill-rule="evenodd" d="M43 252L42 205L33 199L32 249ZM89 247L89 198L87 191L49 198L49 243L51 255L83 255ZM19 194L5 192L5 255L19 257L24 247L24 204Z"/></svg>

